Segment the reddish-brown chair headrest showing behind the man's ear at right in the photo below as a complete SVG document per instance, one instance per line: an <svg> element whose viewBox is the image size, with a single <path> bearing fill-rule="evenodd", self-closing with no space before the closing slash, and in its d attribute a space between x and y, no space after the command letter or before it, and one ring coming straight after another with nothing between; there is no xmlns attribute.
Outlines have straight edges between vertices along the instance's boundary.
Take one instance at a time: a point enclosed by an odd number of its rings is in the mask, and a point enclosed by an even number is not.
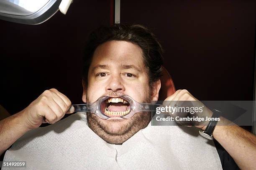
<svg viewBox="0 0 256 170"><path fill-rule="evenodd" d="M163 66L162 66L163 67ZM165 100L168 96L175 93L175 86L172 81L172 77L170 76L169 72L163 67L161 76L161 89L159 91L159 101Z"/></svg>

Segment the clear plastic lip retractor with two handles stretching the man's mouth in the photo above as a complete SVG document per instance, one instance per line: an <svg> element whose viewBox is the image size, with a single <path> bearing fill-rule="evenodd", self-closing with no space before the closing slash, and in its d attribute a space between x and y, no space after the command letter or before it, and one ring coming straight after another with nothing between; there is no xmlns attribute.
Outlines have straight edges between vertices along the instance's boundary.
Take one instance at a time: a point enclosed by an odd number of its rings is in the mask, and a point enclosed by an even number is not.
<svg viewBox="0 0 256 170"><path fill-rule="evenodd" d="M97 99L93 103L89 104L73 104L74 107L73 112L91 112L96 114L101 119L108 119L110 118L106 114L102 113L101 111L101 104L105 100L109 99L111 97L109 96L102 96L99 99ZM128 114L125 114L124 116L121 116L122 118L128 119L131 118L134 114L138 112L152 112L156 111L156 106L161 106L161 104L150 104L150 103L139 103L135 100L133 100L130 96L120 96L120 98L125 99L130 104L130 112Z"/></svg>

